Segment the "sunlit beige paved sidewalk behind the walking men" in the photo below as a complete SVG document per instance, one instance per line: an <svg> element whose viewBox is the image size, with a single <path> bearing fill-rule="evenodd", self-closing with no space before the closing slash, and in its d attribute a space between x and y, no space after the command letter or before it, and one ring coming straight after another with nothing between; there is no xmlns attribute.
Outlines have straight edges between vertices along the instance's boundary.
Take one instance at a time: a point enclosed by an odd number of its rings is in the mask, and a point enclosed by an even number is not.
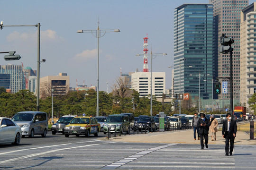
<svg viewBox="0 0 256 170"><path fill-rule="evenodd" d="M140 132L141 133L141 132ZM218 130L216 141L211 141L209 133L209 144L225 144L225 138L222 137L221 130ZM113 136L113 135L112 135ZM180 144L200 144L200 140L193 140L193 129L190 130L174 130L166 132L153 132L148 134L122 135L111 137L111 141L119 142L140 142L140 143L180 143ZM104 138L104 140L108 140ZM235 144L256 145L256 139L250 139L250 135L246 132L238 131L235 138Z"/></svg>

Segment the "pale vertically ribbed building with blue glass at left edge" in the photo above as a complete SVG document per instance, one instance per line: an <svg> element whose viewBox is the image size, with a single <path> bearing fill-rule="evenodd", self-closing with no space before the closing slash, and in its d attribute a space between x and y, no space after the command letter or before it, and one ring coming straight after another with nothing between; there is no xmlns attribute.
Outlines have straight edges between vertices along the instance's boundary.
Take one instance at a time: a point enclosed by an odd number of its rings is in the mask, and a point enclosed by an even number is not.
<svg viewBox="0 0 256 170"><path fill-rule="evenodd" d="M25 78L21 65L0 65L0 87L11 89L12 93L25 89Z"/></svg>

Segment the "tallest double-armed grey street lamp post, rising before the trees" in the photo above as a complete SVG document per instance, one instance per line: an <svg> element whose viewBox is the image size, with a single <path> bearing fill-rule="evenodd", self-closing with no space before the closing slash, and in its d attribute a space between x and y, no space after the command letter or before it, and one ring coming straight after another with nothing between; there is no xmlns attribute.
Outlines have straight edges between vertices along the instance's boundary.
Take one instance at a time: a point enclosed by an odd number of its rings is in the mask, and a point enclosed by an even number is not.
<svg viewBox="0 0 256 170"><path fill-rule="evenodd" d="M106 33L120 32L119 29L111 29L111 30L101 30L99 27L98 22L98 29L97 30L78 30L77 33L91 33L93 36L98 38L98 71L97 71L97 108L96 108L96 116L99 116L99 59L100 59L100 38L103 37ZM94 35L96 34L96 35Z"/></svg>

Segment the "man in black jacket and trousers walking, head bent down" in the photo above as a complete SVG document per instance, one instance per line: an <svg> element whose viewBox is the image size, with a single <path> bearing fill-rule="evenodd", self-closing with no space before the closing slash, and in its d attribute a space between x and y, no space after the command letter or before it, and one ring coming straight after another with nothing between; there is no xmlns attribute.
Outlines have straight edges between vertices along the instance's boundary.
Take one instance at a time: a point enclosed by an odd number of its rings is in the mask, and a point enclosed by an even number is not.
<svg viewBox="0 0 256 170"><path fill-rule="evenodd" d="M199 127L199 134L200 134L200 143L201 143L201 149L203 149L204 144L205 147L208 148L208 134L209 134L209 127L210 127L210 121L205 118L205 114L200 114L201 119L197 122L197 127ZM204 138L204 144L203 144L203 138Z"/></svg>

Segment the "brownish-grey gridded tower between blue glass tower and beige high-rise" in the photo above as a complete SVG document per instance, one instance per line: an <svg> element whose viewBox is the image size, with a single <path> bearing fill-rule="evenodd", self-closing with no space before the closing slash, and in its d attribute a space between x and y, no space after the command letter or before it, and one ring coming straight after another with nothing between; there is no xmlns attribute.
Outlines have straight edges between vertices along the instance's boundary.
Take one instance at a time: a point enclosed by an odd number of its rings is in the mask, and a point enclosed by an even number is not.
<svg viewBox="0 0 256 170"><path fill-rule="evenodd" d="M240 19L241 10L248 6L248 0L209 0L213 4L213 78L219 77L220 81L228 81L230 73L229 54L220 53L220 37L226 34L234 39L233 51L233 99L239 99L240 95ZM229 99L228 93L219 94L219 99Z"/></svg>

